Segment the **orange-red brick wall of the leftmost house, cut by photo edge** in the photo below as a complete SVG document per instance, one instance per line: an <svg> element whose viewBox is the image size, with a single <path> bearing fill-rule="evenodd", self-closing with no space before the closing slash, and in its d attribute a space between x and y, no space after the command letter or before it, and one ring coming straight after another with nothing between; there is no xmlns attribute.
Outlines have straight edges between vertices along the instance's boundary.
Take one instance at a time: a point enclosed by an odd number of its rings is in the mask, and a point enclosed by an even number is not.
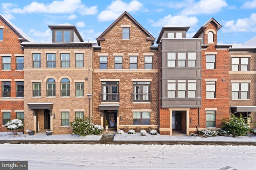
<svg viewBox="0 0 256 170"><path fill-rule="evenodd" d="M16 56L15 54L23 54L18 35L13 32L8 25L0 20L0 25L4 26L3 34L4 39L0 41L0 79L11 79L11 98L2 98L2 81L0 81L0 131L8 131L3 125L3 113L1 109L10 109L11 119L16 118L15 109L24 109L23 98L16 98L16 82L14 79L23 79L24 72L16 71ZM1 56L2 54L2 56ZM2 57L3 54L11 54L11 70L2 70Z"/></svg>

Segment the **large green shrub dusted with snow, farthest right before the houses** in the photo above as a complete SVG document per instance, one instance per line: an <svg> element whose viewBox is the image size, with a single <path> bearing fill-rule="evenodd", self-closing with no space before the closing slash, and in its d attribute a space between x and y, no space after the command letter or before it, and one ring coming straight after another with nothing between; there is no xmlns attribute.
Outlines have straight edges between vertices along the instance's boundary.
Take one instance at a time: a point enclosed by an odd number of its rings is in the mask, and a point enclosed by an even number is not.
<svg viewBox="0 0 256 170"><path fill-rule="evenodd" d="M231 134L233 137L245 136L250 130L246 121L247 118L242 117L242 114L240 114L240 117L236 117L232 114L229 119L224 119L221 129L227 131L227 133Z"/></svg>

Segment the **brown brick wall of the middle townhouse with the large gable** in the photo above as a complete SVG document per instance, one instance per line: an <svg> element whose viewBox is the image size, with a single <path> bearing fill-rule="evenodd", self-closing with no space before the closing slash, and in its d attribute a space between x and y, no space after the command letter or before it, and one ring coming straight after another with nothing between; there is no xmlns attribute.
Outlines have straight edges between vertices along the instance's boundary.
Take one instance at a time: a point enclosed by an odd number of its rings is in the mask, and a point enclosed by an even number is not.
<svg viewBox="0 0 256 170"><path fill-rule="evenodd" d="M121 24L130 24L130 40L122 40ZM122 115L122 121L119 125L133 125L132 109L152 109L150 113L150 125L158 125L158 52L151 51L151 41L147 41L147 36L126 16L122 18L106 35L105 41L100 42L101 51L94 52L94 123L100 124L99 104L101 93L100 79L120 79L120 107L119 115ZM99 72L99 56L98 54L108 53L108 70ZM120 72L114 69L114 53L123 53L122 68ZM128 53L138 53L138 70L129 70L129 55ZM154 53L153 70L144 72L144 53ZM123 71L123 72L122 72ZM132 103L132 79L152 79L150 91L152 100L150 104L133 104ZM117 129L118 130L118 129Z"/></svg>

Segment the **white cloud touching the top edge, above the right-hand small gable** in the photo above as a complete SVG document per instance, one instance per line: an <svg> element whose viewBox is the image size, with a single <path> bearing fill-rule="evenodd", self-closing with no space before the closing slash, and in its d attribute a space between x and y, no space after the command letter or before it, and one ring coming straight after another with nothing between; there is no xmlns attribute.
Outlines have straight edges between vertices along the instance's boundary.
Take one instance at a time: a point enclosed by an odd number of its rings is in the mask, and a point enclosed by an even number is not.
<svg viewBox="0 0 256 170"><path fill-rule="evenodd" d="M215 14L222 10L222 8L228 6L225 0L200 0L199 2L189 0L188 2L190 4L182 10L182 15Z"/></svg>

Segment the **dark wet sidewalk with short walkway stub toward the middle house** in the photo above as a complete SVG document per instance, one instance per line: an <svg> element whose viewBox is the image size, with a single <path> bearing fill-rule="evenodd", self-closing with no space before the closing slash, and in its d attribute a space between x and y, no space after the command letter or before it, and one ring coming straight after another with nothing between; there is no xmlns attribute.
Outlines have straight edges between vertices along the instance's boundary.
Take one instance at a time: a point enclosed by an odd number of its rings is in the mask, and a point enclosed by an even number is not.
<svg viewBox="0 0 256 170"><path fill-rule="evenodd" d="M0 143L10 144L110 144L110 145L253 145L256 141L114 141L116 134L103 134L100 140L0 140Z"/></svg>

